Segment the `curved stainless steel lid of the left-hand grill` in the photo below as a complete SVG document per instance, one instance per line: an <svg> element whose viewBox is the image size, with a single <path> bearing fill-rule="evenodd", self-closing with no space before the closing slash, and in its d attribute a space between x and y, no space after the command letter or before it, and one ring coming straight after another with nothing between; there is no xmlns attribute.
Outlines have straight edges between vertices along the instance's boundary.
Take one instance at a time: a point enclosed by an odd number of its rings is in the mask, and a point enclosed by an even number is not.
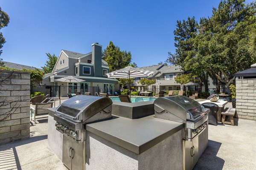
<svg viewBox="0 0 256 170"><path fill-rule="evenodd" d="M109 97L77 95L61 103L56 114L84 122L102 110L111 112L111 107L108 107L111 104L112 100Z"/></svg>

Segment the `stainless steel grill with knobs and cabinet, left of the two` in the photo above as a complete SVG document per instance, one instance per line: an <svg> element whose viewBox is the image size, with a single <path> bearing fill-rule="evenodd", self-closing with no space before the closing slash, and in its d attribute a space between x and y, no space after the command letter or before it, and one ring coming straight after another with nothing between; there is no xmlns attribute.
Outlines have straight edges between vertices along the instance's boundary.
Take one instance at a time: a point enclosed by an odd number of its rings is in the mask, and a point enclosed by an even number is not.
<svg viewBox="0 0 256 170"><path fill-rule="evenodd" d="M55 111L56 129L63 133L62 161L70 170L85 169L85 124L111 118L108 97L78 95Z"/></svg>

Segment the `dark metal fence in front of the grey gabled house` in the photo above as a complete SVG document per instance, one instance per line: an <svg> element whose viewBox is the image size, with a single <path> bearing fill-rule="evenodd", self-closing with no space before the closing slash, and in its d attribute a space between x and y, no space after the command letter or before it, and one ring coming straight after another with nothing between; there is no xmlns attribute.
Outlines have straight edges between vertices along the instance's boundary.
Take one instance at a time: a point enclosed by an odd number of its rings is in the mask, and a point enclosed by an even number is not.
<svg viewBox="0 0 256 170"><path fill-rule="evenodd" d="M64 86L64 85L38 85L38 91L49 94L50 97L57 99L68 99L68 95L76 94L80 92L84 94L85 92L90 92L91 95L95 95L96 92L99 94L99 87L83 87L83 86Z"/></svg>

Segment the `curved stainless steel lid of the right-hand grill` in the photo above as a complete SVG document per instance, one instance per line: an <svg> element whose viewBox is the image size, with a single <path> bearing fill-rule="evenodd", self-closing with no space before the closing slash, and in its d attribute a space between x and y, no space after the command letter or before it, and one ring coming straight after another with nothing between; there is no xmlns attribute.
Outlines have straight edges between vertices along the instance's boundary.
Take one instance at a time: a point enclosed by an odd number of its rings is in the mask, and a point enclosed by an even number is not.
<svg viewBox="0 0 256 170"><path fill-rule="evenodd" d="M169 114L169 118L165 116L166 119L181 119L181 122L197 119L206 111L198 102L186 96L159 97L154 101L154 110L156 117L159 117L158 113L168 112L172 115Z"/></svg>

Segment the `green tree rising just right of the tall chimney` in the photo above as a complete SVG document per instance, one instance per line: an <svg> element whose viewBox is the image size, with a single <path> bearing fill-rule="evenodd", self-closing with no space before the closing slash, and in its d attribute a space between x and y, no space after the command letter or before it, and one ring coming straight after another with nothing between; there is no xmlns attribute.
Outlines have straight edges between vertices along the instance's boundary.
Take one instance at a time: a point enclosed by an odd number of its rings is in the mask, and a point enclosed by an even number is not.
<svg viewBox="0 0 256 170"><path fill-rule="evenodd" d="M121 51L112 41L102 52L102 59L108 62L109 71L116 71L127 67L131 62L131 52Z"/></svg>

